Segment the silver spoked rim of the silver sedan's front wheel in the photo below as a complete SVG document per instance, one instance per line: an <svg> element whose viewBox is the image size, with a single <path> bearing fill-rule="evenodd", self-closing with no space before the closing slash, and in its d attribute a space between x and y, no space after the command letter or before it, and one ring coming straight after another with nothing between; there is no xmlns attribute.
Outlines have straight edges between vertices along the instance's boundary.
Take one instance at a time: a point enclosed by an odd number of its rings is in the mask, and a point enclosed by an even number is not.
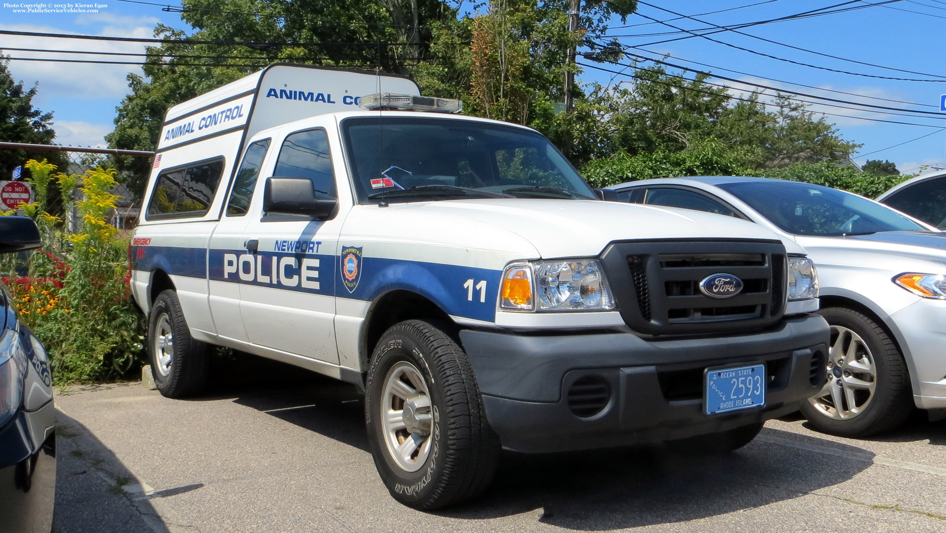
<svg viewBox="0 0 946 533"><path fill-rule="evenodd" d="M832 325L831 337L824 388L809 401L821 415L847 420L864 413L873 400L877 371L870 348L860 335Z"/></svg>

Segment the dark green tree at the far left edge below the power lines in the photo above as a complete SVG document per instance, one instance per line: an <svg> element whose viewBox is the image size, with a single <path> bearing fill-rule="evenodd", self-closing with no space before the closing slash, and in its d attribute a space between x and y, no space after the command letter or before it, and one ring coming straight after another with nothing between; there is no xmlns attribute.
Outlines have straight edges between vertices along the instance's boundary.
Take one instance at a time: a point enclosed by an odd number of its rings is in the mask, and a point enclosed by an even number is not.
<svg viewBox="0 0 946 533"><path fill-rule="evenodd" d="M0 141L27 144L52 144L52 113L33 107L38 84L29 89L22 81L13 80L9 60L0 54ZM61 165L57 151L0 150L0 179L9 180L10 172L29 159L49 159Z"/></svg>

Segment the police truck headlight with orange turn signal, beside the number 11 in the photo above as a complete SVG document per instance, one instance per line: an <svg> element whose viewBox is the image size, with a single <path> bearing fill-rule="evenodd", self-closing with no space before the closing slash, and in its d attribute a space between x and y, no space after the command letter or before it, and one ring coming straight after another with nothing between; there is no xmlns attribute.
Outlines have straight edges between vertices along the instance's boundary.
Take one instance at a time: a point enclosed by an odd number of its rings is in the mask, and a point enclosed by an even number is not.
<svg viewBox="0 0 946 533"><path fill-rule="evenodd" d="M614 297L596 259L513 263L502 273L499 308L510 311L610 311Z"/></svg>

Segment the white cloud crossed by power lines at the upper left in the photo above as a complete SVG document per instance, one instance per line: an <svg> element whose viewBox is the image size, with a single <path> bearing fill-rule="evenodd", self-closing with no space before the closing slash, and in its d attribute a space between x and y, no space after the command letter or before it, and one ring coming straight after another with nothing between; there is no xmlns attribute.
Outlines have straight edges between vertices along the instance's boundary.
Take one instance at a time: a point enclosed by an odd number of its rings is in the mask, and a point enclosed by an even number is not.
<svg viewBox="0 0 946 533"><path fill-rule="evenodd" d="M33 25L0 25L0 29L44 33L76 33L68 29ZM151 27L105 27L99 35L119 37L151 37ZM0 35L0 50L13 58L40 58L91 60L105 62L141 62L136 56L108 56L62 52L25 52L4 49L36 48L48 50L83 50L94 52L142 53L144 44L85 39L59 39L22 35ZM71 98L122 98L128 94L126 76L141 74L141 67L128 64L101 64L77 62L11 61L10 72L26 85L39 81L44 98L65 96Z"/></svg>

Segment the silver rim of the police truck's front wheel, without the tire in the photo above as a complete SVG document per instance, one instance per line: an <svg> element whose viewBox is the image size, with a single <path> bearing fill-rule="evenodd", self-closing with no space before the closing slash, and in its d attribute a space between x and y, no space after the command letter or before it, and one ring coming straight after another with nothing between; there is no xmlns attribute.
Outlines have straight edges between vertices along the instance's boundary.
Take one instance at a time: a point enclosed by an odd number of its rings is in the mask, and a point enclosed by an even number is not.
<svg viewBox="0 0 946 533"><path fill-rule="evenodd" d="M405 471L418 471L430 454L430 393L424 376L413 364L401 361L384 380L381 420L388 453Z"/></svg>

